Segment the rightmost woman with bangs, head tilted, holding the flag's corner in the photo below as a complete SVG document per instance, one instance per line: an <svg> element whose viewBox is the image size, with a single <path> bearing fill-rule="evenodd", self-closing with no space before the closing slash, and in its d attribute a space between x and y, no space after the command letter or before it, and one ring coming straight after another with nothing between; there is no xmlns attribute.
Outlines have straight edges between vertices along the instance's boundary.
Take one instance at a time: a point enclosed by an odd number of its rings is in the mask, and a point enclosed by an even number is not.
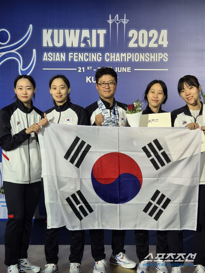
<svg viewBox="0 0 205 273"><path fill-rule="evenodd" d="M189 127L190 130L200 128L205 132L205 107L200 101L201 86L195 76L186 75L178 82L178 93L187 103L184 107L176 109L171 113L172 126ZM200 175L199 175L199 201L197 231L194 231L195 272L204 273L205 270L205 152L201 153Z"/></svg>

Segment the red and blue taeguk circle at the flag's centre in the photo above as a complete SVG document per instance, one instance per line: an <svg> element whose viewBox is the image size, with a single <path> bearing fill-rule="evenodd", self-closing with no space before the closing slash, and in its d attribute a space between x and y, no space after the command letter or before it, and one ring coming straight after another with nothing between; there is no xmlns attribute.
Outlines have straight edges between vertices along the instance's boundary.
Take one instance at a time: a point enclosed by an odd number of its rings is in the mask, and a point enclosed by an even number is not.
<svg viewBox="0 0 205 273"><path fill-rule="evenodd" d="M123 204L132 200L142 186L138 164L127 154L112 152L100 157L91 172L95 193L105 202Z"/></svg>

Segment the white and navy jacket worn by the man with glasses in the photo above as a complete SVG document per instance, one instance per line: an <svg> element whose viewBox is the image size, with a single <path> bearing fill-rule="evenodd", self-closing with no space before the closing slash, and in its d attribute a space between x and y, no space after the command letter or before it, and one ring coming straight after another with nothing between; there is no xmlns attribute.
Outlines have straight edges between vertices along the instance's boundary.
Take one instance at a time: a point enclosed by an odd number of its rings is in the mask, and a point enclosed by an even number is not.
<svg viewBox="0 0 205 273"><path fill-rule="evenodd" d="M104 99L101 99L101 100L104 103L108 114L111 115L111 110L113 109L113 107L110 107L110 103L106 102ZM116 103L116 100L114 98L113 105L115 105L115 103ZM127 104L117 102L117 109L119 112L119 125L117 126L120 126L120 127L129 126L127 122L127 118L126 118L126 113L125 113L125 111L127 110ZM98 108L98 102L94 102L93 104L90 104L88 107L85 108L85 110L87 113L89 124L96 126L95 116L100 114L100 110ZM102 126L104 126L104 123L102 123Z"/></svg>

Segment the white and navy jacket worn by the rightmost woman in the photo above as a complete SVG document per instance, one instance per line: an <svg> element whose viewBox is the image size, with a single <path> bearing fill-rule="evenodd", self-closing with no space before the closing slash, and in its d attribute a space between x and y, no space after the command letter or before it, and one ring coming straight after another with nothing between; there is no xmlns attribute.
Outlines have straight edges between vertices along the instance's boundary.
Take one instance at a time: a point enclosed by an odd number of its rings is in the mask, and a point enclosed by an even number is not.
<svg viewBox="0 0 205 273"><path fill-rule="evenodd" d="M203 124L201 124L201 126L204 126L205 107L203 107L202 102L199 115L196 119L192 116L191 112L189 111L189 107L186 104L185 106L171 112L172 127L186 127L189 123L198 123L197 119L199 116L202 116ZM199 184L205 184L205 152L201 153Z"/></svg>

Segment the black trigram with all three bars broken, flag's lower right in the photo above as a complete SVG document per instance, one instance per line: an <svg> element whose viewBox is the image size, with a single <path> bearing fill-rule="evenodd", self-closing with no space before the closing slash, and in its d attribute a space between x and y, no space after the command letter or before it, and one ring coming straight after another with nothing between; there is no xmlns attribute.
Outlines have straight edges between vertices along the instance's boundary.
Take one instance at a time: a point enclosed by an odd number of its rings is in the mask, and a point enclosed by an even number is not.
<svg viewBox="0 0 205 273"><path fill-rule="evenodd" d="M158 200L156 201L157 198ZM153 201L155 204L151 201ZM156 190L151 198L151 201L148 202L146 207L143 209L143 212L148 213L149 211L148 215L150 217L153 217L154 215L154 219L157 221L164 212L165 208L169 205L171 200L169 198L166 198L163 193L161 193L160 195L160 191Z"/></svg>

